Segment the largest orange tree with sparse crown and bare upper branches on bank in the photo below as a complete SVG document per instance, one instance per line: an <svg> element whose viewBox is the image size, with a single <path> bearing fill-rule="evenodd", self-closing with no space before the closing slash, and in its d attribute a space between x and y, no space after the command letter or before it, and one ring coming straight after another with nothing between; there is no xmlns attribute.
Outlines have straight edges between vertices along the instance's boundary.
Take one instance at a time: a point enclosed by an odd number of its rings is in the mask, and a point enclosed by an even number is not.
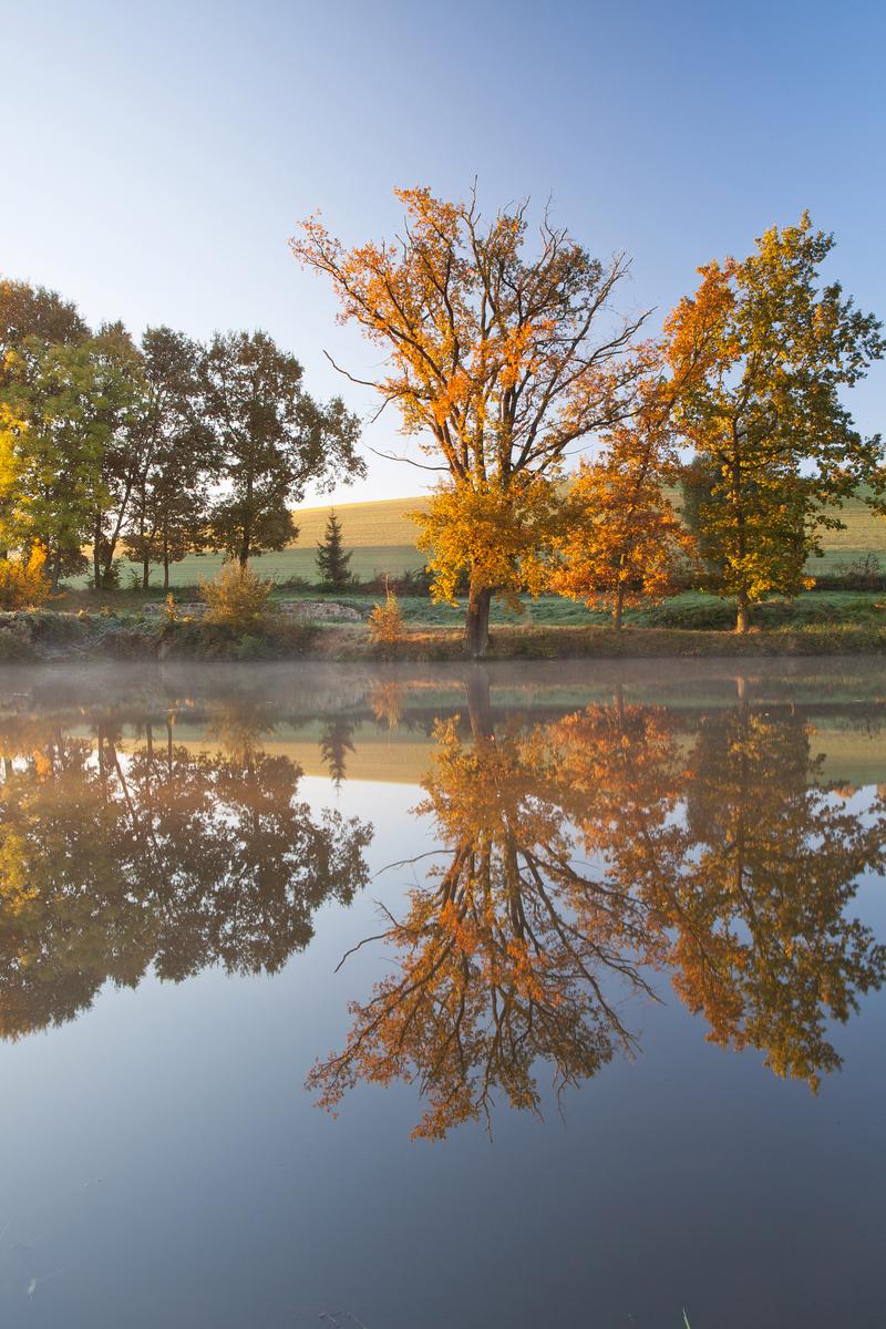
<svg viewBox="0 0 886 1329"><path fill-rule="evenodd" d="M440 598L465 575L476 657L493 593L522 589L543 557L565 456L624 413L643 315L612 318L623 255L592 258L547 215L531 249L527 205L484 222L476 198L396 195L406 209L396 241L348 250L312 218L291 246L332 280L343 320L387 352L371 384L381 408L399 407L445 476L422 545Z"/></svg>

